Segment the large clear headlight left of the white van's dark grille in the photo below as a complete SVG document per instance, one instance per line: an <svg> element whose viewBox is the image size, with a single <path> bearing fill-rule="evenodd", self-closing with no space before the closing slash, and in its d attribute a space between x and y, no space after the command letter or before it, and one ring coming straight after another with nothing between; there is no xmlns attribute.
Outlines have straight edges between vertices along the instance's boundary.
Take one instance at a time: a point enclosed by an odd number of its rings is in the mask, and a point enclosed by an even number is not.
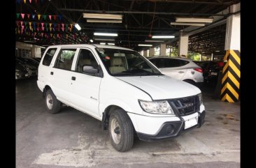
<svg viewBox="0 0 256 168"><path fill-rule="evenodd" d="M167 101L159 102L148 102L143 100L138 100L141 108L148 113L152 114L174 114L173 109Z"/></svg>

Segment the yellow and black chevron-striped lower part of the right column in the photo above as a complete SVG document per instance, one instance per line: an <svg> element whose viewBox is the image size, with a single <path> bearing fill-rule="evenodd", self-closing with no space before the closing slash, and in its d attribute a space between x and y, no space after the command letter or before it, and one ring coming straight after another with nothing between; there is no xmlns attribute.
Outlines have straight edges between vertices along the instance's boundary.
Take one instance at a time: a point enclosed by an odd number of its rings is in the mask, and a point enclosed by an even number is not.
<svg viewBox="0 0 256 168"><path fill-rule="evenodd" d="M224 56L220 98L226 102L236 102L240 95L240 51L227 50Z"/></svg>

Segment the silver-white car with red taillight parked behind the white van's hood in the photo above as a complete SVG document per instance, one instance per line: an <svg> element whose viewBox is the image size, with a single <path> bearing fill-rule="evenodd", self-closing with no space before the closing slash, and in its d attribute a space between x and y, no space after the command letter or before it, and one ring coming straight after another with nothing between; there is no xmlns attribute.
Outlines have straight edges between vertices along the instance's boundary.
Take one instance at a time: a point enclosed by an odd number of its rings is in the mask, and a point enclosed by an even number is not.
<svg viewBox="0 0 256 168"><path fill-rule="evenodd" d="M148 58L164 75L199 86L204 82L203 70L192 59L153 56Z"/></svg>

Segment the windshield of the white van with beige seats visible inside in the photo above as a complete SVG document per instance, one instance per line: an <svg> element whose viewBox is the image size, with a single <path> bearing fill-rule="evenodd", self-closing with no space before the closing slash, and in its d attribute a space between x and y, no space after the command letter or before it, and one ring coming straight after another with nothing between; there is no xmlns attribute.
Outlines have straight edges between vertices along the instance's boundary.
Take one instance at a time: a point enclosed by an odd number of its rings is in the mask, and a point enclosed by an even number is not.
<svg viewBox="0 0 256 168"><path fill-rule="evenodd" d="M162 75L143 56L131 50L96 48L101 61L113 76Z"/></svg>

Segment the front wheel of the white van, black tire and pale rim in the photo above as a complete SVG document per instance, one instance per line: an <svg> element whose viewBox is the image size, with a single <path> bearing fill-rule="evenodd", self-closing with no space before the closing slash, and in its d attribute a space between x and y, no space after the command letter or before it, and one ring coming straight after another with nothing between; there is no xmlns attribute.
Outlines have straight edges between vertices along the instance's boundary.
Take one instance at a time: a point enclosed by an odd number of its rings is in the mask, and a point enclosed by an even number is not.
<svg viewBox="0 0 256 168"><path fill-rule="evenodd" d="M119 127L113 129L115 128L115 122L118 122ZM108 131L111 144L117 151L125 152L131 149L134 144L134 128L127 112L122 109L116 109L112 112L108 123Z"/></svg>

